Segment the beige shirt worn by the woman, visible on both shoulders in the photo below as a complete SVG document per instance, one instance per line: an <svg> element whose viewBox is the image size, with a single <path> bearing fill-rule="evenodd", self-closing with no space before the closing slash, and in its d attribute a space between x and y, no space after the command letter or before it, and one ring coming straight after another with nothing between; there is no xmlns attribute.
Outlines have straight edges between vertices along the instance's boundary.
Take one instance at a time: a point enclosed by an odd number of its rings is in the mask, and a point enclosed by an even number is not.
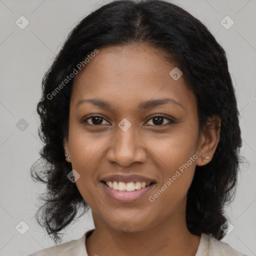
<svg viewBox="0 0 256 256"><path fill-rule="evenodd" d="M88 256L85 239L94 231L88 230L77 240L64 242L46 249L36 251L28 256ZM97 255L97 254L95 254ZM231 248L227 243L202 233L195 256L247 256ZM92 255L94 256L94 255Z"/></svg>

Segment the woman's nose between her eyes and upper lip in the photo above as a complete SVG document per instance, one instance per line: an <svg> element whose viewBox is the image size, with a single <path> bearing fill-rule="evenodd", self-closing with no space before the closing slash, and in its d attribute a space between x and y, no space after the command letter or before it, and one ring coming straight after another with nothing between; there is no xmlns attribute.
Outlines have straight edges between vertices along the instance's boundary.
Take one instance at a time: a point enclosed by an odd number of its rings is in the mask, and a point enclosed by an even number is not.
<svg viewBox="0 0 256 256"><path fill-rule="evenodd" d="M110 141L107 151L107 160L110 163L118 163L121 166L129 166L133 162L144 162L146 160L146 146L134 133L133 127L123 131L119 127Z"/></svg>

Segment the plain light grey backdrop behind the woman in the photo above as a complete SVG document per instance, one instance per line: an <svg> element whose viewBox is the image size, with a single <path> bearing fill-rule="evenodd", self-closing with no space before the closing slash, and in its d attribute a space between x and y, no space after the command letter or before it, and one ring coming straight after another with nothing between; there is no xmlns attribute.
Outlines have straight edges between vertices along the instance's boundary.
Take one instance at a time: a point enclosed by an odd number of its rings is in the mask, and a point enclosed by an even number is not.
<svg viewBox="0 0 256 256"><path fill-rule="evenodd" d="M44 186L32 182L30 167L42 147L35 111L41 79L68 32L100 0L0 0L0 255L27 255L54 245L36 224L38 195ZM226 207L234 226L222 241L247 255L256 255L256 1L172 0L201 20L225 49L234 83L240 125L241 166L236 196ZM221 20L234 24L226 29ZM21 29L16 20L29 24ZM22 17L22 25L25 19ZM223 22L223 21L222 21ZM229 23L228 23L229 22ZM21 23L19 21L19 23ZM21 124L24 125L20 128ZM23 130L22 130L23 129ZM24 221L24 222L20 222ZM23 228L28 228L24 234ZM20 227L20 228L18 228ZM93 228L91 212L65 230L64 240L77 239ZM19 230L20 229L20 230ZM21 230L22 231L22 230Z"/></svg>

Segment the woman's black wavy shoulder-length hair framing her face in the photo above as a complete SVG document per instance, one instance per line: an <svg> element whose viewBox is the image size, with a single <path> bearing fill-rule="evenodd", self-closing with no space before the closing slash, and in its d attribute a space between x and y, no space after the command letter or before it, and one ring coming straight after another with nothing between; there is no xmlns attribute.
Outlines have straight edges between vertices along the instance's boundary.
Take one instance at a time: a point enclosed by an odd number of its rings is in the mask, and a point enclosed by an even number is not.
<svg viewBox="0 0 256 256"><path fill-rule="evenodd" d="M74 77L51 99L49 94L94 49L131 43L161 49L166 59L178 63L196 97L200 129L209 124L209 117L221 119L213 158L196 166L186 205L191 233L221 239L225 233L220 227L227 220L223 209L233 199L241 159L239 113L226 54L198 19L162 0L117 0L94 10L72 29L44 74L37 104L43 147L40 162L34 162L30 171L33 180L46 183L47 189L40 196L43 203L36 220L57 243L59 231L76 219L79 209L83 214L89 208L76 184L66 177L72 167L64 157L63 138L68 137Z"/></svg>

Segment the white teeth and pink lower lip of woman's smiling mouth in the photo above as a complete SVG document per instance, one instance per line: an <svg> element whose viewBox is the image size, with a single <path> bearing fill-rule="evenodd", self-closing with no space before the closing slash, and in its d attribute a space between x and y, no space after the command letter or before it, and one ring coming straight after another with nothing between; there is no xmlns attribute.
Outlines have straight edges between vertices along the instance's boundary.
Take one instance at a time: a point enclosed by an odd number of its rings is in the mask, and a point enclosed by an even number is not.
<svg viewBox="0 0 256 256"><path fill-rule="evenodd" d="M146 193L153 188L155 182L101 180L100 184L110 198L118 202L134 202L144 197Z"/></svg>

